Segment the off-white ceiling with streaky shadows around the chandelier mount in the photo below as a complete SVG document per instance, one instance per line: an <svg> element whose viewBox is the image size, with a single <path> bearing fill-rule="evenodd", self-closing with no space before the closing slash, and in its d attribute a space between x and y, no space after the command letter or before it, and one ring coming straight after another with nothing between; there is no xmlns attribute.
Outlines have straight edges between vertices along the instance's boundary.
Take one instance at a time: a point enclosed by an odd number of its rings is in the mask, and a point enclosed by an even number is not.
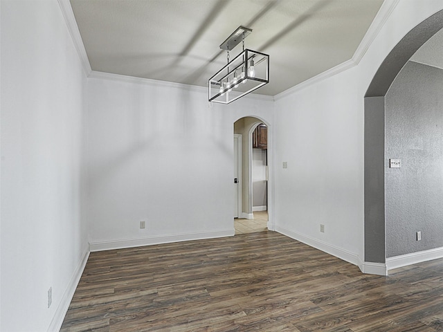
<svg viewBox="0 0 443 332"><path fill-rule="evenodd" d="M352 58L383 0L71 0L93 71L207 86L239 26L276 95ZM233 59L241 44L231 50Z"/></svg>

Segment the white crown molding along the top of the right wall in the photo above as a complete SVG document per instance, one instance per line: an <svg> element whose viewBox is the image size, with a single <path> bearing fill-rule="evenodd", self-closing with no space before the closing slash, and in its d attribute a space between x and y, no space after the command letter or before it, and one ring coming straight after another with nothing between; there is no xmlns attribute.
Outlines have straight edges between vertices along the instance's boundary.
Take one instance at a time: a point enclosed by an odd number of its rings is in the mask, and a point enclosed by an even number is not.
<svg viewBox="0 0 443 332"><path fill-rule="evenodd" d="M372 42L374 42L374 39L377 37L377 35L379 35L381 28L383 28L383 26L386 24L386 21L388 21L388 18L390 17L390 15L394 11L398 3L399 0L383 1L379 9L379 12L377 12L377 15L375 16L374 20L372 21L372 24L368 28L368 31L366 31L365 36L363 37L363 39L361 39L361 43L356 48L354 55L352 55L351 59L341 64L338 64L337 66L330 68L327 71L323 71L323 73L315 75L314 77L309 78L309 80L303 81L300 84L297 84L296 86L293 86L281 93L278 93L277 95L274 95L274 100L280 100L284 97L287 97L288 95L291 95L296 91L305 89L308 86L311 86L312 84L315 84L329 77L337 75L338 73L341 73L343 71L347 71L347 69L350 69L359 64L359 62L361 61L361 59L363 59L363 56L371 46Z"/></svg>

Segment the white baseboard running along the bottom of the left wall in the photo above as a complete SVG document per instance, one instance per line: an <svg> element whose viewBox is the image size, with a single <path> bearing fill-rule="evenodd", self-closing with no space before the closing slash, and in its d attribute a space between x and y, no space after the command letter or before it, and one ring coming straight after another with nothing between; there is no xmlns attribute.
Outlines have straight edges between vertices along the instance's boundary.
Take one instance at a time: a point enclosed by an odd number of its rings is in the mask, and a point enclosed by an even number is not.
<svg viewBox="0 0 443 332"><path fill-rule="evenodd" d="M53 319L51 320L51 324L49 324L48 327L48 332L60 331L63 324L64 316L68 311L69 304L71 304L71 300L74 296L75 289L78 286L78 282L80 282L80 277L82 277L82 273L84 267L86 266L88 258L89 258L89 248L85 248L82 254L82 259L80 259L77 268L75 268L75 271L71 277L71 281L66 287L62 295L62 299L60 300L60 304L57 306L57 309L55 310L55 314L53 316Z"/></svg>

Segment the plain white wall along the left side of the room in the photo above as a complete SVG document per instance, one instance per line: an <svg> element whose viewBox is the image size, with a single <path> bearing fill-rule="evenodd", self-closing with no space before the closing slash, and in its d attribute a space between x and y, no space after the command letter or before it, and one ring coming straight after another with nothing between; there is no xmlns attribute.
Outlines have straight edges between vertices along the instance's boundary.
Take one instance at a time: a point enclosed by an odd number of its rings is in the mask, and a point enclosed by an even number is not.
<svg viewBox="0 0 443 332"><path fill-rule="evenodd" d="M57 1L0 6L0 330L48 331L88 252L80 218L87 79Z"/></svg>

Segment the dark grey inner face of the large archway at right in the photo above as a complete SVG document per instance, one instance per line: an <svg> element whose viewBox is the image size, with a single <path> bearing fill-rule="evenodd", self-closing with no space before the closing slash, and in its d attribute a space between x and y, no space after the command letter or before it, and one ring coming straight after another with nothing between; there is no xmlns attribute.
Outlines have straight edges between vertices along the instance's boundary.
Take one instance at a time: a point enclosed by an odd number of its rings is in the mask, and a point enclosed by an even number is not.
<svg viewBox="0 0 443 332"><path fill-rule="evenodd" d="M365 94L365 261L386 264L386 95L410 57L443 28L443 10L428 17L392 49Z"/></svg>

